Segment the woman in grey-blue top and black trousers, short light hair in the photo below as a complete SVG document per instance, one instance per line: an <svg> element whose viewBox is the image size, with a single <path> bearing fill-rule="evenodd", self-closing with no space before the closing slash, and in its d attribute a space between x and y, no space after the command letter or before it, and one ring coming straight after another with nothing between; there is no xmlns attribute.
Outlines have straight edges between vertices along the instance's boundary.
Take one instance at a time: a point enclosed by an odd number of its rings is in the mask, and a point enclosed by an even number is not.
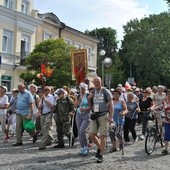
<svg viewBox="0 0 170 170"><path fill-rule="evenodd" d="M125 124L123 126L124 128L124 139L125 142L130 142L129 139L129 131L132 133L132 137L134 141L137 141L136 136L136 130L135 130L135 124L137 121L138 112L140 111L139 105L137 102L134 101L134 94L133 92L130 92L127 94L127 114L125 116Z"/></svg>

